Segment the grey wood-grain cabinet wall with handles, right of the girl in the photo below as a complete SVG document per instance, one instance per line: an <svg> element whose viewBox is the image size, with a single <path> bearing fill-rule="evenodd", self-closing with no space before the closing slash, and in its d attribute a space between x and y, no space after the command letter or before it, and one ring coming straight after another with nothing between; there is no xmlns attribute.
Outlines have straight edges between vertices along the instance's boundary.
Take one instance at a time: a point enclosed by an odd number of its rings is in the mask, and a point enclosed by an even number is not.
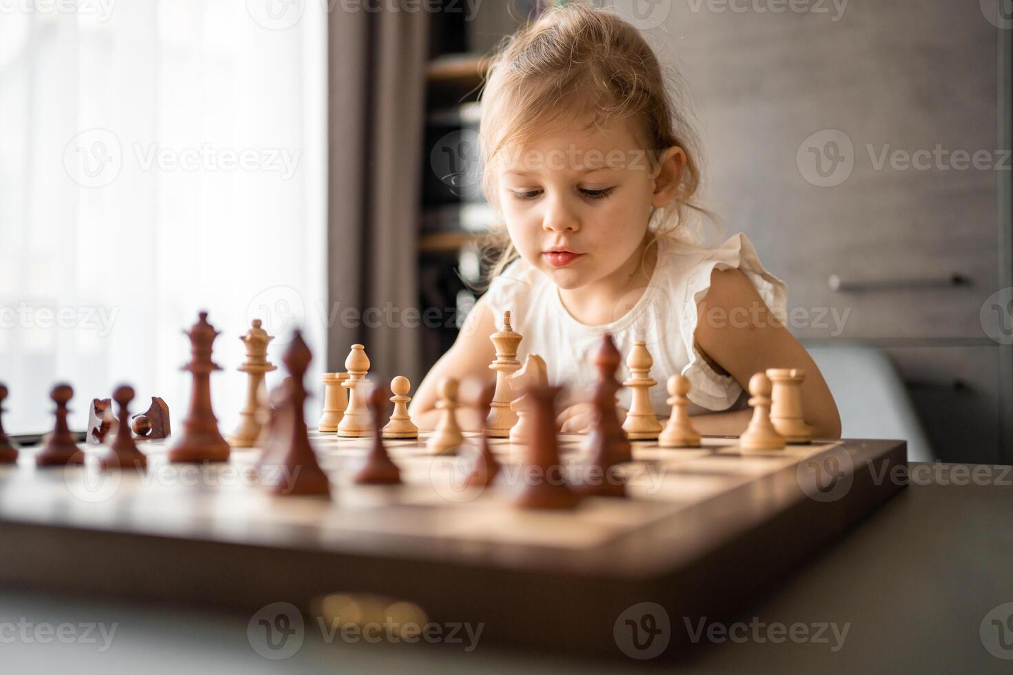
<svg viewBox="0 0 1013 675"><path fill-rule="evenodd" d="M746 232L788 282L796 335L887 348L936 453L998 461L1008 389L999 363L1008 347L986 334L998 314L984 328L980 314L1008 285L997 253L997 186L1008 172L958 170L950 158L936 166L924 153L927 170L876 162L884 150L912 156L941 146L987 151L993 165L995 151L1009 147L997 131L1008 125L997 107L997 43L1008 31L969 1L852 0L843 13L815 0L797 6L828 13L760 12L758 4L777 5L751 0L733 12L721 11L726 3L677 1L646 31L688 82L709 203L728 234ZM1009 71L1001 77L1008 97ZM845 159L837 173L828 140ZM829 176L816 171L810 148ZM835 273L864 289L831 290ZM967 283L948 285L953 273ZM838 320L817 322L824 308ZM835 394L861 396L857 388Z"/></svg>

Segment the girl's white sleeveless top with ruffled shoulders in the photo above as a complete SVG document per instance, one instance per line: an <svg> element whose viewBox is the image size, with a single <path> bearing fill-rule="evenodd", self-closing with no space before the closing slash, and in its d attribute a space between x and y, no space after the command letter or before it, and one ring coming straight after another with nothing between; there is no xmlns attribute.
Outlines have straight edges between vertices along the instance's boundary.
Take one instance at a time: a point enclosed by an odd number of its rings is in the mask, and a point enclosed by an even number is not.
<svg viewBox="0 0 1013 675"><path fill-rule="evenodd" d="M787 316L787 287L760 264L756 249L739 234L717 248L661 239L657 263L643 294L628 311L617 306L615 321L588 326L575 320L563 307L559 289L549 277L522 259L510 264L493 279L485 301L500 325L502 313L511 312L514 330L523 336L518 358L528 354L545 359L549 383L564 385L559 410L587 400L597 377L595 355L605 333L611 333L625 360L634 340L645 340L654 359L650 376L657 386L650 389L654 412L668 414L669 376L679 372L689 378L690 413L724 411L744 407L746 396L729 375L718 374L694 346L697 303L710 287L711 272L737 267L753 283L760 298L778 318ZM626 364L620 366L620 381L629 377ZM619 405L629 410L630 391L619 392ZM737 404L737 405L736 405Z"/></svg>

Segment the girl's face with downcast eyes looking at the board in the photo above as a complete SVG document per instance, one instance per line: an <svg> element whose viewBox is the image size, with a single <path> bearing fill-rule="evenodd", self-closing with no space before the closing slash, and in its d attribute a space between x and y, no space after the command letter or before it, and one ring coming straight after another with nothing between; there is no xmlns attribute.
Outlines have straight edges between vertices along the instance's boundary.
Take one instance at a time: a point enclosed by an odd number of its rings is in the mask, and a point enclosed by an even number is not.
<svg viewBox="0 0 1013 675"><path fill-rule="evenodd" d="M521 257L564 289L631 274L651 206L671 199L655 192L650 166L622 121L575 123L504 150L499 203Z"/></svg>

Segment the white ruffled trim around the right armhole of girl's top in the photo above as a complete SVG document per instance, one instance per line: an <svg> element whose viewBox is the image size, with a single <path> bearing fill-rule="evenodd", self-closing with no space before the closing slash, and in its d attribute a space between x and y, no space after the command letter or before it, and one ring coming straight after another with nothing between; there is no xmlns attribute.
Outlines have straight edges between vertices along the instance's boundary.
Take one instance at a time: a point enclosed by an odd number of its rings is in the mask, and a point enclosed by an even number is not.
<svg viewBox="0 0 1013 675"><path fill-rule="evenodd" d="M690 355L690 361L682 371L692 385L689 399L708 410L727 410L738 400L743 388L734 377L716 372L697 349L693 338L699 321L697 304L710 288L711 274L715 269L735 267L742 270L767 307L781 319L787 316L787 286L764 269L756 249L744 234L735 235L713 249L677 245L675 255L682 258L677 267L686 274L679 321L681 339L686 353Z"/></svg>

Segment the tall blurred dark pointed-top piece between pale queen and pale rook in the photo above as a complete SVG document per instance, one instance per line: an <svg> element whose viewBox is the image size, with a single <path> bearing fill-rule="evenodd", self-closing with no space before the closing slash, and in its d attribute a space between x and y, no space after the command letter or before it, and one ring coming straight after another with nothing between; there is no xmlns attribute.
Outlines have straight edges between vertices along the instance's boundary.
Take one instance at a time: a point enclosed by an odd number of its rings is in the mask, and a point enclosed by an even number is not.
<svg viewBox="0 0 1013 675"><path fill-rule="evenodd" d="M282 362L291 379L283 388L284 403L276 419L271 446L260 465L261 483L276 495L330 495L330 481L310 445L306 417L306 370L313 353L296 331ZM284 411L284 412L282 412Z"/></svg>

